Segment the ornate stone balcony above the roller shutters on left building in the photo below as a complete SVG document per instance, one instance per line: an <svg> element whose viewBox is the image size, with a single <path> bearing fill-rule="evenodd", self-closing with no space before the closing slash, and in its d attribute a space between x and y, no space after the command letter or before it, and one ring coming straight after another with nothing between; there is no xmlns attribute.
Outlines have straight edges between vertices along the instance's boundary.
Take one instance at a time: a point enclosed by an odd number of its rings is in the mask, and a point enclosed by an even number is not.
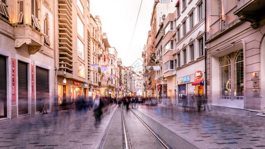
<svg viewBox="0 0 265 149"><path fill-rule="evenodd" d="M29 54L35 54L44 44L42 33L32 27L32 25L17 25L15 27L15 48L20 48L23 44L29 45Z"/></svg>

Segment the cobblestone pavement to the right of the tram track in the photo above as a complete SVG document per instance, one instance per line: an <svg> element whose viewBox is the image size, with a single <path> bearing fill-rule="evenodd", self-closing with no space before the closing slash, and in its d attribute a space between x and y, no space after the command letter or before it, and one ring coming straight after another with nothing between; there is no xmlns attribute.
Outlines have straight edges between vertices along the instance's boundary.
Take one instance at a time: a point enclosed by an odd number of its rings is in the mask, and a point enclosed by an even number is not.
<svg viewBox="0 0 265 149"><path fill-rule="evenodd" d="M160 105L137 110L200 149L265 149L264 117L172 109Z"/></svg>

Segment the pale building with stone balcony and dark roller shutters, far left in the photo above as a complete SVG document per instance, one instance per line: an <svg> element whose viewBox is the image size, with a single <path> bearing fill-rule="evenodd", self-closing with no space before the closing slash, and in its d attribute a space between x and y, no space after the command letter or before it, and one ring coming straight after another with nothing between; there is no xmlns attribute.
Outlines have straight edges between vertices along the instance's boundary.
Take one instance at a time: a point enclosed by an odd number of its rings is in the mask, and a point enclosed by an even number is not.
<svg viewBox="0 0 265 149"><path fill-rule="evenodd" d="M0 119L54 109L53 2L0 0Z"/></svg>

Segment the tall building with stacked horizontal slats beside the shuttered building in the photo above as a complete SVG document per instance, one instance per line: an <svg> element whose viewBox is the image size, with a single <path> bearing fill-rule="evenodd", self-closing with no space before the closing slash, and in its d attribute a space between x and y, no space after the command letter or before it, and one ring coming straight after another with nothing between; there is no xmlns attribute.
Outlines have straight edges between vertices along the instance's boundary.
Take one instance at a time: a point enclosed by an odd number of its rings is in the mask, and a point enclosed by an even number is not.
<svg viewBox="0 0 265 149"><path fill-rule="evenodd" d="M89 0L55 1L54 36L58 106L88 97L90 79Z"/></svg>

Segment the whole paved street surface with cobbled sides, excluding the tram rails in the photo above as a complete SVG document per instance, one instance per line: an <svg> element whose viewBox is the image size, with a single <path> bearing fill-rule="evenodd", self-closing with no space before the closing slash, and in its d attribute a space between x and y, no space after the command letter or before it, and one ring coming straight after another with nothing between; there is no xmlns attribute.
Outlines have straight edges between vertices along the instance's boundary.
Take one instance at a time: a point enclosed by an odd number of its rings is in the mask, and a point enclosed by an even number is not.
<svg viewBox="0 0 265 149"><path fill-rule="evenodd" d="M170 149L265 149L265 120L159 105L131 109ZM132 111L123 109L130 149L164 149ZM11 127L12 126L12 127ZM121 109L94 125L92 111L65 110L0 121L2 149L125 149Z"/></svg>

